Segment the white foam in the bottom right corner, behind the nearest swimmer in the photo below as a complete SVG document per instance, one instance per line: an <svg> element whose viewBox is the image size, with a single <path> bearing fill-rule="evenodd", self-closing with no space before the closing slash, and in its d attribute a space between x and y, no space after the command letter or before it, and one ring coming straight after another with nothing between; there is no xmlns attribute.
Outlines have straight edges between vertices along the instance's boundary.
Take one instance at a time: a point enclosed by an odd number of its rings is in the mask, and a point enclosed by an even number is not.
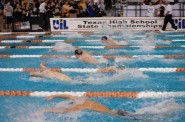
<svg viewBox="0 0 185 122"><path fill-rule="evenodd" d="M156 121L178 121L182 117L181 111L185 109L184 104L177 103L174 99L163 99L161 102L144 103L136 110L133 117L141 121L156 122Z"/></svg>

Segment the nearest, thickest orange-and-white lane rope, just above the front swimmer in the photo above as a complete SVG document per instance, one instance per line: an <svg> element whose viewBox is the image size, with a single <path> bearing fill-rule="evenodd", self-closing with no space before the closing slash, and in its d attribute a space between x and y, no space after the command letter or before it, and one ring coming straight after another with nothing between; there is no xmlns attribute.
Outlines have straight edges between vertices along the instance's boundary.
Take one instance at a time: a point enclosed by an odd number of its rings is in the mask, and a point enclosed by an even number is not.
<svg viewBox="0 0 185 122"><path fill-rule="evenodd" d="M72 95L77 97L98 97L98 98L176 98L185 97L185 91L171 91L171 92L156 92L156 91L140 91L140 92L128 92L128 91L84 91L84 92L73 92L73 91L0 91L0 96L22 96L22 97L48 97L51 95Z"/></svg>

